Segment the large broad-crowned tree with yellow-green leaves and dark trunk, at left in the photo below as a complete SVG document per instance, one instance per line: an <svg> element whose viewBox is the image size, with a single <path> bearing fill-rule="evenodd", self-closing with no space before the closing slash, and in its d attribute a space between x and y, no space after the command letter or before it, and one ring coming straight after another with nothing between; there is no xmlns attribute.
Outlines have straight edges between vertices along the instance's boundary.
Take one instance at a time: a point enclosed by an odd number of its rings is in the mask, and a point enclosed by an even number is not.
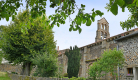
<svg viewBox="0 0 138 80"><path fill-rule="evenodd" d="M53 52L57 55L53 31L45 25L46 19L42 19L41 16L37 17L32 21L33 25L30 24L30 19L31 15L27 15L27 11L19 12L14 21L2 29L3 37L0 42L5 59L14 64L23 62L22 74L24 75L30 75L30 67L35 65L30 59L38 55L38 52ZM29 25L30 29L21 26L25 21L28 21L26 25ZM27 34L23 34L21 28L25 28Z"/></svg>

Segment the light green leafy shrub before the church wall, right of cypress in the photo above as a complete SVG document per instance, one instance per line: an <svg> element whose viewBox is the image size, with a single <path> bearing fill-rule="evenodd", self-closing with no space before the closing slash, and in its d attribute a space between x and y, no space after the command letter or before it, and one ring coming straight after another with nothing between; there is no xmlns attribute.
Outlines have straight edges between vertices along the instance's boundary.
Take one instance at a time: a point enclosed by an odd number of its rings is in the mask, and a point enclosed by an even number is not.
<svg viewBox="0 0 138 80"><path fill-rule="evenodd" d="M124 60L125 58L121 50L117 51L116 48L114 48L113 50L104 51L100 60L97 60L97 62L94 62L92 66L90 66L88 74L94 80L109 72L117 77L117 73L114 72L114 69L117 69L117 66L122 67ZM105 74L102 72L105 72Z"/></svg>

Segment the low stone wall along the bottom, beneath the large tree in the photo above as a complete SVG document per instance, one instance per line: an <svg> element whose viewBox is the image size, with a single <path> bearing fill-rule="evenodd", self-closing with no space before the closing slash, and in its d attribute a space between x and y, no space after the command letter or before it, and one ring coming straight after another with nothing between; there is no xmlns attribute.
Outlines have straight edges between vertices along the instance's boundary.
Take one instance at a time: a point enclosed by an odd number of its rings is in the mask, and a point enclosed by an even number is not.
<svg viewBox="0 0 138 80"><path fill-rule="evenodd" d="M8 73L8 76L12 79L12 80L68 80L68 78L46 78L46 77L31 77L31 76L25 76L25 75L17 75L17 74L12 74L12 73Z"/></svg>

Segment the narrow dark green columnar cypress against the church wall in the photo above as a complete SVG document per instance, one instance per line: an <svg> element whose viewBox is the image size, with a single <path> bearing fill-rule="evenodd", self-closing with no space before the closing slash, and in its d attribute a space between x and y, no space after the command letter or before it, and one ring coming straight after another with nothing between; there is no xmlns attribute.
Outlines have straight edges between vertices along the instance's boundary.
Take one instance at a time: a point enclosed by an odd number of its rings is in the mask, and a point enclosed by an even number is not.
<svg viewBox="0 0 138 80"><path fill-rule="evenodd" d="M80 59L81 54L79 48L75 45L75 47L70 47L69 52L66 51L65 55L68 57L68 68L67 73L68 77L78 77L78 72L80 68Z"/></svg>

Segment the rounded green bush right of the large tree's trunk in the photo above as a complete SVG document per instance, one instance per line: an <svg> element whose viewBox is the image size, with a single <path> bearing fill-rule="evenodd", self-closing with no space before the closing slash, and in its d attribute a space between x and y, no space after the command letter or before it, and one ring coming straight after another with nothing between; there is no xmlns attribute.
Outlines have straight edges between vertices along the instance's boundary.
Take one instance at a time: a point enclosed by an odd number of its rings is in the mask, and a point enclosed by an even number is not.
<svg viewBox="0 0 138 80"><path fill-rule="evenodd" d="M35 76L53 77L58 70L57 57L54 53L39 53L32 59L32 62L37 65ZM39 75L38 75L39 74Z"/></svg>

